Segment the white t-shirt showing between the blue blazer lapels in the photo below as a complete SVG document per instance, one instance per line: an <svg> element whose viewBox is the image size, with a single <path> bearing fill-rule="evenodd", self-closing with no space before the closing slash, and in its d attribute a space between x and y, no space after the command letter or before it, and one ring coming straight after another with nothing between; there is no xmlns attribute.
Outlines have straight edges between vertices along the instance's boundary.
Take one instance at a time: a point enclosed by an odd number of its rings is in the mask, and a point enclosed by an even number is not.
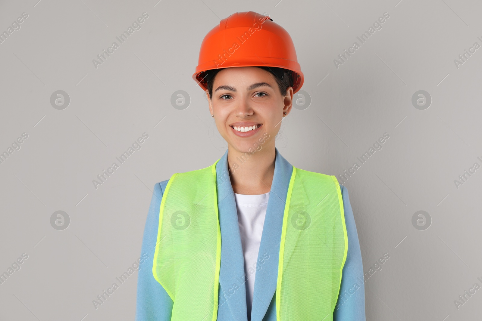
<svg viewBox="0 0 482 321"><path fill-rule="evenodd" d="M238 222L241 234L241 245L244 256L244 273L246 274L246 305L248 320L251 320L253 305L254 277L258 259L259 244L265 224L269 192L259 195L234 193Z"/></svg>

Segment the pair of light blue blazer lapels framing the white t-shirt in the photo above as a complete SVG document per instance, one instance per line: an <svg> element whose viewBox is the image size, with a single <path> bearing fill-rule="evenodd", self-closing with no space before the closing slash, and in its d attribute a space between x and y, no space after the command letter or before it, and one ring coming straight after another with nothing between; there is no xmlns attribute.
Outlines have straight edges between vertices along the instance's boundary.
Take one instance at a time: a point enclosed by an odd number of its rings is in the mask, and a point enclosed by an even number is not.
<svg viewBox="0 0 482 321"><path fill-rule="evenodd" d="M293 165L275 147L275 168L269 193L261 244L259 266L254 278L251 321L262 321L276 291L281 228L286 196ZM228 151L216 164L216 187L221 229L221 267L219 271L219 305L228 305L233 320L247 321L244 256L242 253L238 212L228 172ZM268 257L268 258L267 258ZM264 262L261 264L261 262ZM218 308L224 311L224 308ZM270 308L269 314L276 315Z"/></svg>

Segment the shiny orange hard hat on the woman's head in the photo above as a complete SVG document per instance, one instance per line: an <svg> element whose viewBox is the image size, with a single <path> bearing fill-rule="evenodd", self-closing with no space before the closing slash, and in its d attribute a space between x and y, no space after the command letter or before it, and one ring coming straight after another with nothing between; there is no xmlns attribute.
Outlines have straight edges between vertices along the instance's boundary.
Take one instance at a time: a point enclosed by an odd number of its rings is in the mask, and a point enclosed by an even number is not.
<svg viewBox="0 0 482 321"><path fill-rule="evenodd" d="M253 11L233 13L204 37L199 62L192 78L207 90L209 70L228 67L264 66L291 70L293 91L304 77L288 32L269 16Z"/></svg>

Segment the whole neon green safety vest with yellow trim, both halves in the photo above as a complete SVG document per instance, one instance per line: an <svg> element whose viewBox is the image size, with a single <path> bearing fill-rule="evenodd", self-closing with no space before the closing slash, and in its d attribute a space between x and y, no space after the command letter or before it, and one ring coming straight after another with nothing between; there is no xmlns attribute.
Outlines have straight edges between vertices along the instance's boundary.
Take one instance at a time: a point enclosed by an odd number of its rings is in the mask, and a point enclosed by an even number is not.
<svg viewBox="0 0 482 321"><path fill-rule="evenodd" d="M174 301L172 321L217 318L218 161L174 174L162 196L152 273ZM276 320L332 321L347 250L338 180L293 167L281 231Z"/></svg>

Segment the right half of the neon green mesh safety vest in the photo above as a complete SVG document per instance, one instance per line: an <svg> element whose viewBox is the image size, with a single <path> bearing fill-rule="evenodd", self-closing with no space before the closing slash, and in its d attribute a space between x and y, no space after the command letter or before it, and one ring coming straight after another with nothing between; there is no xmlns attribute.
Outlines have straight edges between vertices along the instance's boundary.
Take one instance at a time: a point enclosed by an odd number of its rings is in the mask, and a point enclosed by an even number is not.
<svg viewBox="0 0 482 321"><path fill-rule="evenodd" d="M335 176L294 168L281 231L278 321L331 321L348 250Z"/></svg>

